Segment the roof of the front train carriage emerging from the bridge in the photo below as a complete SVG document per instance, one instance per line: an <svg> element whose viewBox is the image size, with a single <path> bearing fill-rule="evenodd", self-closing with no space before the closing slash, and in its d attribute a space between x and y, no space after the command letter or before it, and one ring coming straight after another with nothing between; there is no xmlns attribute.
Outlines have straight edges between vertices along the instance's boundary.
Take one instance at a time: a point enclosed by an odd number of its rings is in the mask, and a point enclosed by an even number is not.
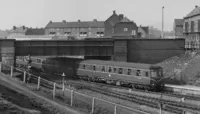
<svg viewBox="0 0 200 114"><path fill-rule="evenodd" d="M129 68L141 68L141 69L149 69L152 67L152 64L128 63L128 62L104 61L104 60L84 60L84 61L81 61L81 63L107 65L107 66L118 66L118 67L129 67ZM153 65L153 67L160 67L160 66Z"/></svg>

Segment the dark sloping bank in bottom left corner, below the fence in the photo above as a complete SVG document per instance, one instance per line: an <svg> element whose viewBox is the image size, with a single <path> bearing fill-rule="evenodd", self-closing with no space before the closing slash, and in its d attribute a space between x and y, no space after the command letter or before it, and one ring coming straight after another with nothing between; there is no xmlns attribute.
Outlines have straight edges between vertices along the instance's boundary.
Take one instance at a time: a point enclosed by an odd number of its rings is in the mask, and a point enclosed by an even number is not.
<svg viewBox="0 0 200 114"><path fill-rule="evenodd" d="M0 73L0 113L82 114L30 90L25 84Z"/></svg>

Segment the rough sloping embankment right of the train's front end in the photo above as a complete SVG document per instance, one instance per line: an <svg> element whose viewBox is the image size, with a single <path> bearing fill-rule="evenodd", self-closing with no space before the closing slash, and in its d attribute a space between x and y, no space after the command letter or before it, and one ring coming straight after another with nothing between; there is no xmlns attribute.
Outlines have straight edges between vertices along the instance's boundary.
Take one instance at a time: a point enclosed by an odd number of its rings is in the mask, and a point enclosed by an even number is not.
<svg viewBox="0 0 200 114"><path fill-rule="evenodd" d="M165 76L170 77L169 84L186 84L200 86L200 53L186 52L171 57L161 63Z"/></svg>

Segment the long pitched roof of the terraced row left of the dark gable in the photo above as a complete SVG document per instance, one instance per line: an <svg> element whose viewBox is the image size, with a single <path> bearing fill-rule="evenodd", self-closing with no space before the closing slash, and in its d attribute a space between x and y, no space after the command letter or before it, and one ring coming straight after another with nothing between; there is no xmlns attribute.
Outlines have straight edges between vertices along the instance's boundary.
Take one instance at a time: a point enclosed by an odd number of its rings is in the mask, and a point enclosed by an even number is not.
<svg viewBox="0 0 200 114"><path fill-rule="evenodd" d="M49 22L45 28L104 28L104 21Z"/></svg>

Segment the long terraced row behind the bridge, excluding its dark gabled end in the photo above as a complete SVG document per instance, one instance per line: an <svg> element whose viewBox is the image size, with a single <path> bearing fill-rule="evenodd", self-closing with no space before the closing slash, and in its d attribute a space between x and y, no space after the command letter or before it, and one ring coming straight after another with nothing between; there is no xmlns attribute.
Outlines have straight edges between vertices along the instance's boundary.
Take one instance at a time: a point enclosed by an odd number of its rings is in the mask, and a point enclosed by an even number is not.
<svg viewBox="0 0 200 114"><path fill-rule="evenodd" d="M52 22L45 27L46 35L71 36L77 39L86 37L103 37L104 21L80 21L77 22Z"/></svg>

